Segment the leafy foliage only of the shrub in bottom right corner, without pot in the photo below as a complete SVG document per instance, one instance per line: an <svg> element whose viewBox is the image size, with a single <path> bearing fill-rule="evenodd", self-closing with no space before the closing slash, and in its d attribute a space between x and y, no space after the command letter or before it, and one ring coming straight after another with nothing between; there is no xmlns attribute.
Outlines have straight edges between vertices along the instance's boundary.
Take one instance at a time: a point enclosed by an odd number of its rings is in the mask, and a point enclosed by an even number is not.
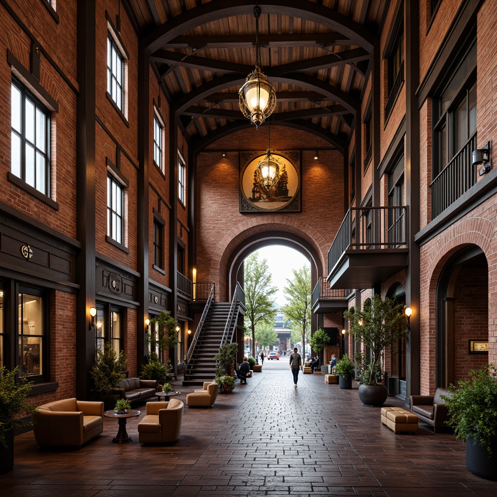
<svg viewBox="0 0 497 497"><path fill-rule="evenodd" d="M489 456L491 440L497 436L497 366L488 364L481 370L470 370L469 379L449 386L450 396L442 396L456 437L478 440Z"/></svg>

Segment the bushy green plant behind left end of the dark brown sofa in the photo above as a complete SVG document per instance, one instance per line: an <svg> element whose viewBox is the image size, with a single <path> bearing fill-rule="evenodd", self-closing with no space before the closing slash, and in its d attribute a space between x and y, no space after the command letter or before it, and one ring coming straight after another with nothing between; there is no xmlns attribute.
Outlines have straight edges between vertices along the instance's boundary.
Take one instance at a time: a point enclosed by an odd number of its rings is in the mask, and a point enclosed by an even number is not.
<svg viewBox="0 0 497 497"><path fill-rule="evenodd" d="M121 350L119 355L112 345L105 343L103 350L97 349L95 364L90 370L93 379L93 391L105 395L121 390L120 383L126 378L123 372L126 369L126 357Z"/></svg>

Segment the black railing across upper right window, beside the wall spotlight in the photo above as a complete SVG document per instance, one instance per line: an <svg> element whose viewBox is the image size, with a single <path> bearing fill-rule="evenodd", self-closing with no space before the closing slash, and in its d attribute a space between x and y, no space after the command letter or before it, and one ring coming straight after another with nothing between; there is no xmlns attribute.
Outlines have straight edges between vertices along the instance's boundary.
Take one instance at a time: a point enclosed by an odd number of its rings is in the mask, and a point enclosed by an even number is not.
<svg viewBox="0 0 497 497"><path fill-rule="evenodd" d="M432 181L431 219L435 219L476 184L476 166L472 165L472 153L475 149L476 133Z"/></svg>

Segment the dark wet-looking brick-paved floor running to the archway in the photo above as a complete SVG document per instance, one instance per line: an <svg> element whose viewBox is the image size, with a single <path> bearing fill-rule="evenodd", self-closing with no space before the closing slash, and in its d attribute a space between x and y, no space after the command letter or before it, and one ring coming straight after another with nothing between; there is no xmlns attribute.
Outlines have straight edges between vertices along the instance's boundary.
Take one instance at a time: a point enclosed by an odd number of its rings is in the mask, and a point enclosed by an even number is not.
<svg viewBox="0 0 497 497"><path fill-rule="evenodd" d="M179 397L192 388L181 390ZM14 470L0 477L3 496L259 497L390 496L495 497L497 484L466 470L464 445L449 432L396 435L380 409L363 406L357 386L340 390L323 375L299 376L286 360L211 409L185 409L179 440L170 446L112 443L117 423L81 450L42 450L31 432L15 438ZM400 406L389 397L385 405Z"/></svg>

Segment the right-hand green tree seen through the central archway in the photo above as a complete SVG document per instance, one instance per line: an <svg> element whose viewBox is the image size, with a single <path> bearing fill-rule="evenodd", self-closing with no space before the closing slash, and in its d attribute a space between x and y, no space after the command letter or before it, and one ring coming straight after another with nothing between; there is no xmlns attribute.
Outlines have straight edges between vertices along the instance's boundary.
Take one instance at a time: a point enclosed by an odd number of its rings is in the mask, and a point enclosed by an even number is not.
<svg viewBox="0 0 497 497"><path fill-rule="evenodd" d="M292 321L299 327L302 337L302 353L305 353L306 331L311 329L311 266L292 269L293 278L286 279L285 294L288 304L281 310L285 320Z"/></svg>

